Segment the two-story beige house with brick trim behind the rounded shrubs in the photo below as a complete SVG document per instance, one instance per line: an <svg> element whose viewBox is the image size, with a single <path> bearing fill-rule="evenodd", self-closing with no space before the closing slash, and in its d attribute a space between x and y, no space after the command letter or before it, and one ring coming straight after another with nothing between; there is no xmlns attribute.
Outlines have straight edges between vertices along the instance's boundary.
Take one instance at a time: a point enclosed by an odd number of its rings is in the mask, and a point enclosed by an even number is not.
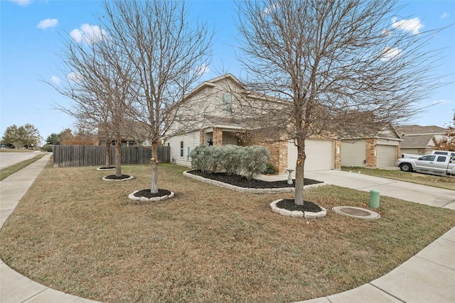
<svg viewBox="0 0 455 303"><path fill-rule="evenodd" d="M235 92L235 94L231 94ZM275 171L285 172L286 168L295 168L297 148L293 142L277 141L276 138L263 138L265 140L252 141L245 133L248 126L235 114L238 109L236 94L242 94L252 101L277 102L277 100L263 99L252 92L234 76L228 74L200 84L191 94L183 100L179 109L177 121L172 131L178 130L183 124L193 123L191 129L186 129L184 134L170 136L164 145L171 147L171 159L178 165L191 167L190 153L198 145L263 145L272 155L271 163ZM202 110L202 107L204 110ZM186 109L185 109L186 108ZM198 111L199 114L195 114ZM341 167L341 141L336 139L306 140L305 170L332 170ZM395 159L396 160L396 159Z"/></svg>

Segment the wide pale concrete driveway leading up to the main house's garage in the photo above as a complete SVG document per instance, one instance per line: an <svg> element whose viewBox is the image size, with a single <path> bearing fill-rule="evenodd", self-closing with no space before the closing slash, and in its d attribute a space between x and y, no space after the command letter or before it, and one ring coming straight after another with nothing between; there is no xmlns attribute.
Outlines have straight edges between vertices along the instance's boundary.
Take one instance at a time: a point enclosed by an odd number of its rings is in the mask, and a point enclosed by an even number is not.
<svg viewBox="0 0 455 303"><path fill-rule="evenodd" d="M305 172L305 177L364 192L370 192L371 189L375 189L382 196L455 210L455 191L450 189L373 177L356 172L343 172L341 170Z"/></svg>

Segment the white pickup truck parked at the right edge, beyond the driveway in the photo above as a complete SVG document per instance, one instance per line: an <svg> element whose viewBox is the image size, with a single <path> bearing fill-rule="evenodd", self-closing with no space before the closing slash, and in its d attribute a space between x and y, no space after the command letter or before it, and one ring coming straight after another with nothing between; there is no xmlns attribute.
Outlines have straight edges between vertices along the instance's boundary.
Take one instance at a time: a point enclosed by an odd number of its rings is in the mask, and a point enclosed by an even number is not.
<svg viewBox="0 0 455 303"><path fill-rule="evenodd" d="M400 158L395 163L403 172L422 170L455 175L455 158L451 155L424 155L420 158Z"/></svg>

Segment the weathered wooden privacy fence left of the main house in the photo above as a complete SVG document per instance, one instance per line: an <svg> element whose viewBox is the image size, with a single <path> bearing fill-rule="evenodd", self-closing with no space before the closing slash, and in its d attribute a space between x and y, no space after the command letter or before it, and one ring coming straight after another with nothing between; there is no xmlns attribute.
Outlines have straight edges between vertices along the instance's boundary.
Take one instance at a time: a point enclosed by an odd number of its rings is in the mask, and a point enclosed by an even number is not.
<svg viewBox="0 0 455 303"><path fill-rule="evenodd" d="M54 167L105 166L105 145L54 145ZM122 145L122 165L149 164L151 150L141 146ZM171 148L159 146L158 162L171 162ZM110 163L115 165L115 146L110 147Z"/></svg>

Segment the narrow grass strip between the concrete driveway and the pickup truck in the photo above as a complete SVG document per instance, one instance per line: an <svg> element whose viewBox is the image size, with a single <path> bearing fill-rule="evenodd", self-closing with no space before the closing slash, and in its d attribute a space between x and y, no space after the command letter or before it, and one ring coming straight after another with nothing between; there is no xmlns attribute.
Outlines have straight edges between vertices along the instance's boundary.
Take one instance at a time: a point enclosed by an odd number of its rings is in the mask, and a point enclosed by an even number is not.
<svg viewBox="0 0 455 303"><path fill-rule="evenodd" d="M422 172L402 172L401 170L380 170L378 168L364 167L341 167L341 170L346 172L352 170L353 172L360 172L365 175L455 190L455 177L446 175L432 175L430 173Z"/></svg>

